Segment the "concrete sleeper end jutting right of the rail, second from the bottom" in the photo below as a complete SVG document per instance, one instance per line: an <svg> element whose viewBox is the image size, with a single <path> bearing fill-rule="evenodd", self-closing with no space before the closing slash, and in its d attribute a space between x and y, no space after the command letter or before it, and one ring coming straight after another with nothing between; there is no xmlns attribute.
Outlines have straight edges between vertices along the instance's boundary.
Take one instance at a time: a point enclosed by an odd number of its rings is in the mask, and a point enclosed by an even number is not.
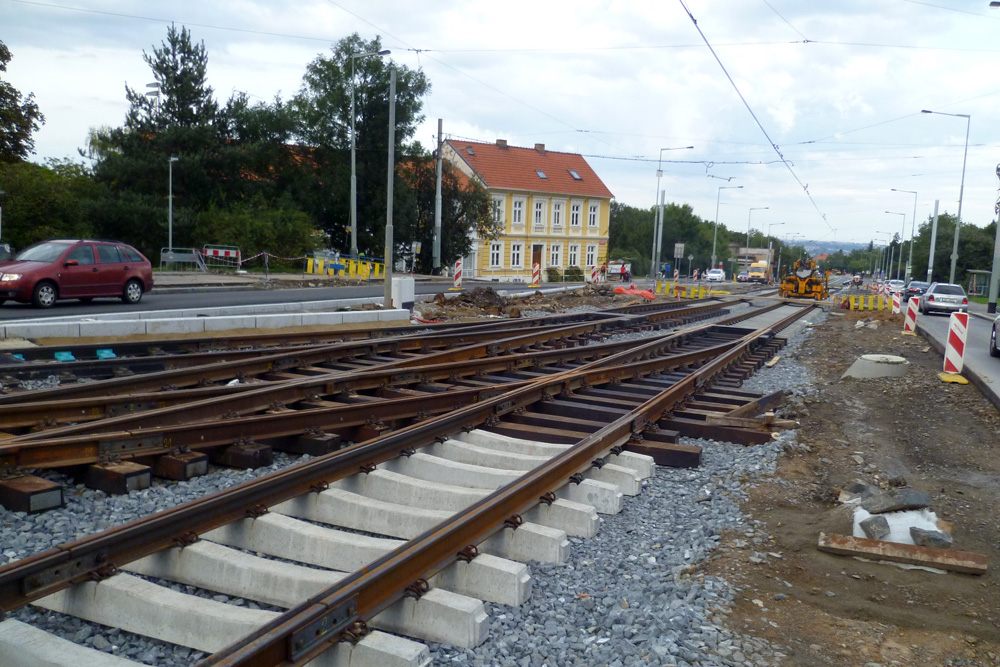
<svg viewBox="0 0 1000 667"><path fill-rule="evenodd" d="M482 602L440 588L432 588L418 599L403 598L373 618L370 625L462 648L482 644L490 629Z"/></svg>

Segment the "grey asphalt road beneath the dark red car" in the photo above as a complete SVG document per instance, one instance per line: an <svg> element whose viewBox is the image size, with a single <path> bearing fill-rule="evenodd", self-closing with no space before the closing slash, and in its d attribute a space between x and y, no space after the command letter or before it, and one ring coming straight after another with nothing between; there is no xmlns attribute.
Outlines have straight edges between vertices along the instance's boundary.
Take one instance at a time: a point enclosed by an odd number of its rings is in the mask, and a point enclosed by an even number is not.
<svg viewBox="0 0 1000 667"><path fill-rule="evenodd" d="M446 282L417 283L417 294L436 294L448 291ZM149 310L175 310L178 308L208 308L213 306L246 306L261 303L288 303L324 301L328 299L351 299L380 297L381 284L361 287L310 287L297 289L248 289L232 288L165 288L154 289L142 297L142 302L127 306L121 299L94 299L90 303L80 303L75 299L59 301L48 309L35 308L31 304L6 302L0 306L0 321L19 319L40 319L45 317L66 317L94 315L98 313L122 313Z"/></svg>

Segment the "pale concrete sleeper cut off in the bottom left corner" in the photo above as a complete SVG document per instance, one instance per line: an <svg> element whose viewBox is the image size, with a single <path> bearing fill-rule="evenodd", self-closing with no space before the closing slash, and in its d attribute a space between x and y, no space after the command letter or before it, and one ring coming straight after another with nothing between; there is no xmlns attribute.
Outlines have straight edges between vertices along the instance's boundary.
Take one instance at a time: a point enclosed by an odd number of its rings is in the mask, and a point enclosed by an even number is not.
<svg viewBox="0 0 1000 667"><path fill-rule="evenodd" d="M141 663L74 644L8 618L0 623L0 665L31 667L132 667Z"/></svg>

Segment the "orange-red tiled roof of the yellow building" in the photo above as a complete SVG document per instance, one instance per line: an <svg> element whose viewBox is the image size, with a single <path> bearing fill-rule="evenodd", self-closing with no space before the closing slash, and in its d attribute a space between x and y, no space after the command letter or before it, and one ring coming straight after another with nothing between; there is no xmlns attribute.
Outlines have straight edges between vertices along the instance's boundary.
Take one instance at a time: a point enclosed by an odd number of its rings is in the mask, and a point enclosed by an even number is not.
<svg viewBox="0 0 1000 667"><path fill-rule="evenodd" d="M496 144L484 144L449 139L447 143L489 188L614 197L583 156L577 153L545 150L543 144L535 148L507 146L507 142L502 140ZM570 169L580 175L580 180L573 178ZM544 173L546 178L541 178L536 170Z"/></svg>

